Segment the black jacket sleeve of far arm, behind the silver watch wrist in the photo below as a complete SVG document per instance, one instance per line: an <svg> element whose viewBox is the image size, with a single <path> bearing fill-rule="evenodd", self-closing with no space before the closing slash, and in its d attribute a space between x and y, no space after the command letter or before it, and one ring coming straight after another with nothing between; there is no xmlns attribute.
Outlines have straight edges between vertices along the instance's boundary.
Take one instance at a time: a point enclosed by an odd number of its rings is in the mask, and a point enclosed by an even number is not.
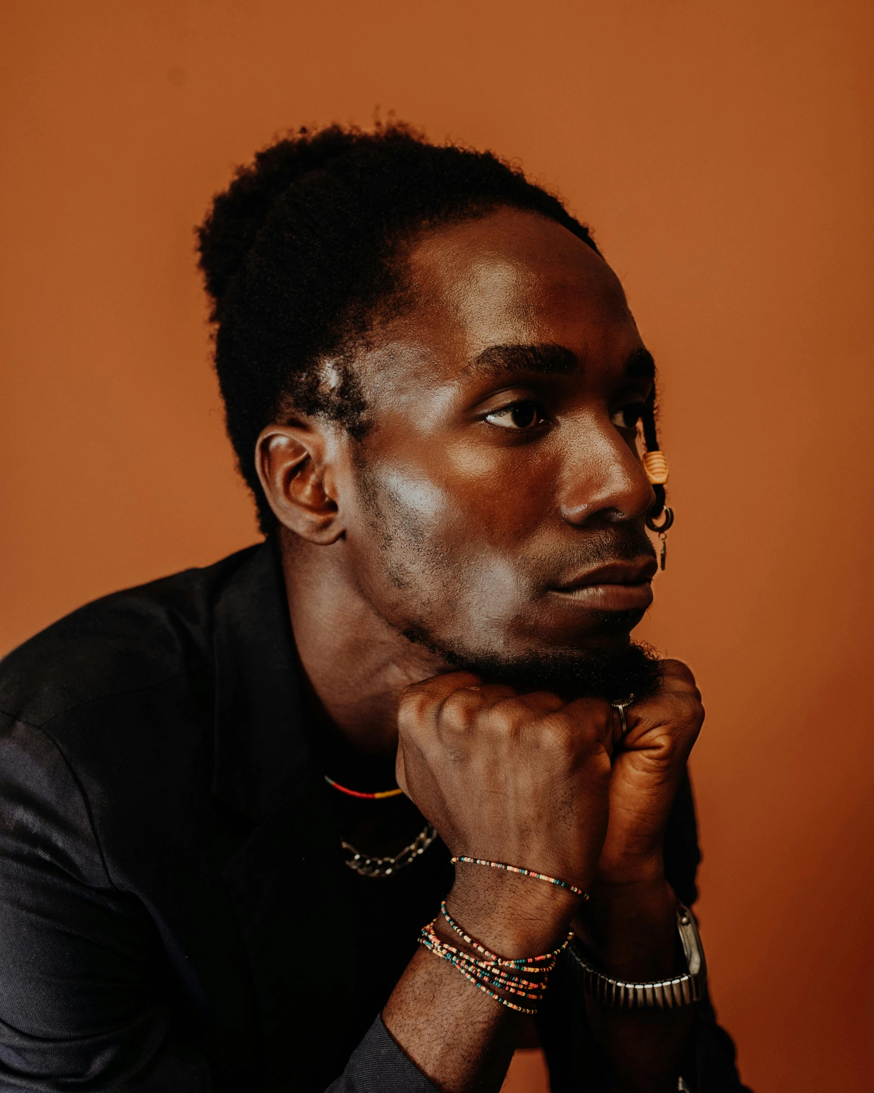
<svg viewBox="0 0 874 1093"><path fill-rule="evenodd" d="M696 873L701 855L688 775L677 792L668 823L665 875L677 897L692 906L697 898ZM693 1093L749 1093L735 1066L731 1036L717 1023L709 994L694 1004L695 1016L681 1067ZM582 980L566 952L550 978L550 990L538 1019L541 1043L550 1067L552 1093L615 1093L610 1060L597 1044L586 1020Z"/></svg>

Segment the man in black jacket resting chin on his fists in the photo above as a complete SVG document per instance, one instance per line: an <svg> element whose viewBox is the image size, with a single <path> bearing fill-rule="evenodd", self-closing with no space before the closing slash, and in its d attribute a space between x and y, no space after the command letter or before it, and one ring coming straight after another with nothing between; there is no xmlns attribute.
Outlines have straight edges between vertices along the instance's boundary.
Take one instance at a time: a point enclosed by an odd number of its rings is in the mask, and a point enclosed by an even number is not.
<svg viewBox="0 0 874 1093"><path fill-rule="evenodd" d="M0 1089L488 1091L540 1042L555 1091L739 1090L699 695L629 639L654 368L588 231L333 127L200 249L267 541L4 662Z"/></svg>

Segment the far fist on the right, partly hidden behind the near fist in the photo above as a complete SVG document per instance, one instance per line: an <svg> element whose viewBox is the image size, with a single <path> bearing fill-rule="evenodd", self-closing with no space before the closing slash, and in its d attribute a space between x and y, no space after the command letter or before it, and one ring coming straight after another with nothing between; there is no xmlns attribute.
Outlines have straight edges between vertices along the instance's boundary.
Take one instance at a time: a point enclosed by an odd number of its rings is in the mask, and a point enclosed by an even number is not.
<svg viewBox="0 0 874 1093"><path fill-rule="evenodd" d="M686 761L704 721L695 677L680 660L662 662L659 691L614 721L610 825L597 886L650 883L662 877L662 843Z"/></svg>

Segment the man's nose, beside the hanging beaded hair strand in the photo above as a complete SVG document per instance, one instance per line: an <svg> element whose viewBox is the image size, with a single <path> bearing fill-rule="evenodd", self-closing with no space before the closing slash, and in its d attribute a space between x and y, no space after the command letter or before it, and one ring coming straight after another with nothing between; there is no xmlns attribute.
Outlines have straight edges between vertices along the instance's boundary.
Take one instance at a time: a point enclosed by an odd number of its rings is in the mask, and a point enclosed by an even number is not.
<svg viewBox="0 0 874 1093"><path fill-rule="evenodd" d="M606 414L584 415L563 430L562 516L575 525L637 520L656 495L636 454Z"/></svg>

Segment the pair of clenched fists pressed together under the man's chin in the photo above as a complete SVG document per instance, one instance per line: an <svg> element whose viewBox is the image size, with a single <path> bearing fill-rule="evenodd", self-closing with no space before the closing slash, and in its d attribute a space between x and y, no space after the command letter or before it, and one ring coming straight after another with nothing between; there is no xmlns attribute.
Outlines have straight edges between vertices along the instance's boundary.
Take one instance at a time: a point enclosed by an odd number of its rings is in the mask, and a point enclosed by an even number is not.
<svg viewBox="0 0 874 1093"><path fill-rule="evenodd" d="M658 882L668 815L704 719L689 670L663 662L628 731L599 698L518 694L452 672L409 687L398 784L453 855L610 890ZM546 943L578 908L566 890L479 867L457 871L452 905L506 945ZM509 950L507 950L509 952Z"/></svg>

